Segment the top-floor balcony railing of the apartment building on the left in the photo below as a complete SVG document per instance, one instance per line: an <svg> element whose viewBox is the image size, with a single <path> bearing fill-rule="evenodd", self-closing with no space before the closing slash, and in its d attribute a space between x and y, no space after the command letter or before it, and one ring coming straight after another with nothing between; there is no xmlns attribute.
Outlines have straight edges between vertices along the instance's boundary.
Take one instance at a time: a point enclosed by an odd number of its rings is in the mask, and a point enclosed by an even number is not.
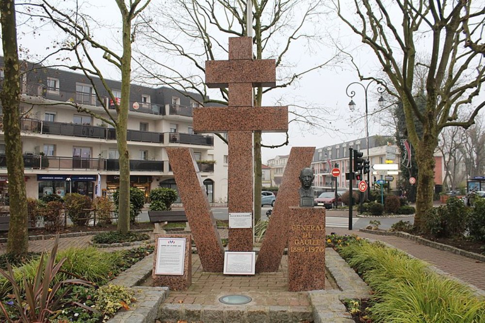
<svg viewBox="0 0 485 323"><path fill-rule="evenodd" d="M103 91L104 92L104 91ZM72 92L56 88L48 88L43 84L36 82L22 84L22 94L33 97L45 97L49 100L72 102L90 106L106 106L108 109L114 110L114 103L111 97L105 93L101 95L101 101L96 94L85 92ZM165 114L165 106L156 103L143 103L140 101L130 101L129 111L150 113L150 114Z"/></svg>

